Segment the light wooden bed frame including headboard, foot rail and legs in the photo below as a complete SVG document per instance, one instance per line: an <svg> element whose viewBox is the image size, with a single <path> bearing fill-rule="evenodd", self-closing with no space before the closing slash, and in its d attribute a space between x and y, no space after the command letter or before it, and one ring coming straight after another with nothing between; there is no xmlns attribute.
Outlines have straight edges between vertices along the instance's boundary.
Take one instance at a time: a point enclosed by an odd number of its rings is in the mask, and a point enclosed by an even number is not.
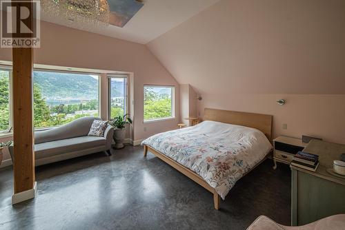
<svg viewBox="0 0 345 230"><path fill-rule="evenodd" d="M228 124L233 124L233 125L243 125L246 127L253 127L263 132L267 136L268 140L271 140L271 136L272 136L272 118L273 117L271 115L265 115L265 114L252 114L252 113L246 113L246 112L235 112L235 111L228 111L228 110L221 110L221 109L208 109L208 108L204 110L205 121L219 121L222 123L228 123ZM210 191L213 194L215 209L217 210L219 209L220 196L217 194L217 191L215 191L213 187L210 187L210 185L208 185L208 183L203 178L201 178L201 176L197 175L194 171L191 171L187 167L184 167L183 165L177 163L175 160L172 160L168 156L161 154L156 149L153 149L152 147L148 145L144 145L144 156L147 156L148 151L152 152L152 154L155 154L155 156L163 160L165 163L174 167L175 169L180 171L182 174L188 176L188 178L194 180L199 185L201 185L202 187ZM257 165L262 163L262 161L259 162ZM257 167L257 165L255 165L255 167ZM250 171L253 170L255 167L250 169ZM247 174L250 171L248 171Z"/></svg>

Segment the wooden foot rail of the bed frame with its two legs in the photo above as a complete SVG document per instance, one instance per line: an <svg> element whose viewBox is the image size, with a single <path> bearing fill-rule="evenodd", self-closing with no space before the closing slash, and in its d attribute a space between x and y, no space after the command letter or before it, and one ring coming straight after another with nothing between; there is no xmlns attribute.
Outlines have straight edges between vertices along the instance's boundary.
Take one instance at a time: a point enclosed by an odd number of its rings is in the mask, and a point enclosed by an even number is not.
<svg viewBox="0 0 345 230"><path fill-rule="evenodd" d="M217 209L217 210L219 209L220 196L217 194L217 191L215 191L215 189L213 187L210 187L210 185L208 185L208 183L203 178L201 178L201 176L196 174L194 171L191 171L190 169L184 167L183 165L177 163L175 160L168 158L168 156L161 154L159 151L153 149L152 147L150 147L148 145L144 145L144 156L147 156L148 151L152 152L152 154L155 154L155 156L157 156L159 159L163 160L168 165L177 169L177 171L181 172L181 174L188 176L188 178L194 180L199 185L201 185L202 187L204 187L205 189L210 191L213 194L213 201L215 203L215 209Z"/></svg>

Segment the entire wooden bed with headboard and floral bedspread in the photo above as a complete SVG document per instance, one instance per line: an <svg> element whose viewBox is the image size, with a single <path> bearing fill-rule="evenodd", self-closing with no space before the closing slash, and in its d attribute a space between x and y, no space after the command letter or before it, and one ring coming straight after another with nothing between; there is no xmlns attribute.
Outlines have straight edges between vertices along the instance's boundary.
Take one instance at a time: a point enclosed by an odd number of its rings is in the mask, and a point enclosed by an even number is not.
<svg viewBox="0 0 345 230"><path fill-rule="evenodd" d="M150 151L213 194L215 209L235 182L270 153L272 116L204 110L204 121L144 140Z"/></svg>

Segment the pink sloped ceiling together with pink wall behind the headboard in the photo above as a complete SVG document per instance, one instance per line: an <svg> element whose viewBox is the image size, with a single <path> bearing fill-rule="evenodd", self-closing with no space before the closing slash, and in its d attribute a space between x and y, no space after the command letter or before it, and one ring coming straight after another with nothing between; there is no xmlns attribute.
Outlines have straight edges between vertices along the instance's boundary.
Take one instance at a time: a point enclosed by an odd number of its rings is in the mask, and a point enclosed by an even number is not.
<svg viewBox="0 0 345 230"><path fill-rule="evenodd" d="M344 25L342 0L222 0L148 48L201 94L201 116L204 107L272 114L275 136L345 144Z"/></svg>

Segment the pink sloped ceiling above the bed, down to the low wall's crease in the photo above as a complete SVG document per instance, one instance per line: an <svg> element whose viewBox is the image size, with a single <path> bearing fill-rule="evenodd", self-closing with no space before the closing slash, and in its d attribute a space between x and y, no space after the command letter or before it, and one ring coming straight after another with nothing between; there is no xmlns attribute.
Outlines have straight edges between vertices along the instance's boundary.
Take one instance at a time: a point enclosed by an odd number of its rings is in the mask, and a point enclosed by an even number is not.
<svg viewBox="0 0 345 230"><path fill-rule="evenodd" d="M201 94L345 94L345 1L222 0L148 48Z"/></svg>

